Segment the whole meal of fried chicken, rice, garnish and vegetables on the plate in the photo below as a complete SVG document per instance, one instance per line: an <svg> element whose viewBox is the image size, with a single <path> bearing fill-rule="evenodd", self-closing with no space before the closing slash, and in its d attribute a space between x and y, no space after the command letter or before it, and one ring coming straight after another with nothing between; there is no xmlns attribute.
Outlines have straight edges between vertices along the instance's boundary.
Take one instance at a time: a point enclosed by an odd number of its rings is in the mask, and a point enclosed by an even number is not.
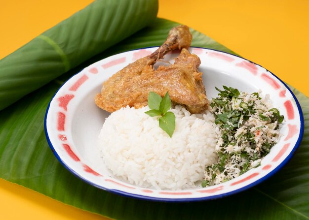
<svg viewBox="0 0 309 220"><path fill-rule="evenodd" d="M111 112L98 146L117 178L153 189L213 186L259 166L278 142L283 116L268 95L223 86L209 105L200 60L187 50L191 40L187 26L171 29L162 46L118 71L96 95ZM177 48L175 63L154 69Z"/></svg>

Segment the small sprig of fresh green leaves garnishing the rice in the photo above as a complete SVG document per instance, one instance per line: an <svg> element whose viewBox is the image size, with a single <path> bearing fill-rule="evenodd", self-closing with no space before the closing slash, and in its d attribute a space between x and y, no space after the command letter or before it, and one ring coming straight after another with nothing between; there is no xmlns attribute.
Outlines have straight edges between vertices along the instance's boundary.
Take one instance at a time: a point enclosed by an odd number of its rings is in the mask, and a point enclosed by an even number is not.
<svg viewBox="0 0 309 220"><path fill-rule="evenodd" d="M176 117L173 112L168 112L171 108L171 99L168 92L163 98L159 94L150 92L148 95L148 106L151 110L145 113L151 117L161 116L159 118L159 126L172 137L175 130Z"/></svg>

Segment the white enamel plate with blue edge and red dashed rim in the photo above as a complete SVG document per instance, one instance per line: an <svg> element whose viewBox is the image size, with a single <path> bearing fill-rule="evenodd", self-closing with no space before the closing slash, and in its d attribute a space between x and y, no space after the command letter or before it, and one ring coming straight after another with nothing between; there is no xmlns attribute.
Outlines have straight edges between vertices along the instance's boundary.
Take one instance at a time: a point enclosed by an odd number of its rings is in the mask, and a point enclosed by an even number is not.
<svg viewBox="0 0 309 220"><path fill-rule="evenodd" d="M293 156L303 132L304 118L292 91L262 66L243 58L206 48L191 47L199 56L203 81L209 99L216 97L215 87L222 85L253 93L270 94L274 107L284 115L282 137L262 160L261 166L225 183L207 188L184 190L145 189L117 179L105 167L96 140L109 113L94 103L102 83L118 70L154 52L157 47L117 54L84 68L70 78L54 95L45 115L45 134L57 159L88 184L116 194L155 201L189 202L221 198L251 188L276 173ZM173 63L177 53L165 56ZM156 63L157 65L166 63Z"/></svg>

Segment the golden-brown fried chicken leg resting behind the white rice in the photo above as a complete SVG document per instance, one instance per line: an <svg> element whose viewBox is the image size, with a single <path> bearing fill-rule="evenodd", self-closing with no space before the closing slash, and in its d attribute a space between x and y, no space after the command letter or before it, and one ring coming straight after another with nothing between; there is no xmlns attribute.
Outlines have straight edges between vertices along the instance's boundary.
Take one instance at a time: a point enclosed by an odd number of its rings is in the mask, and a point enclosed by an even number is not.
<svg viewBox="0 0 309 220"><path fill-rule="evenodd" d="M192 35L184 25L169 31L166 41L151 55L130 63L103 83L95 103L100 108L114 112L121 107L140 108L147 105L149 92L164 96L169 93L174 104L185 106L192 114L208 108L208 100L202 82L202 73L197 70L199 58L190 54ZM181 49L175 63L153 65L171 50Z"/></svg>

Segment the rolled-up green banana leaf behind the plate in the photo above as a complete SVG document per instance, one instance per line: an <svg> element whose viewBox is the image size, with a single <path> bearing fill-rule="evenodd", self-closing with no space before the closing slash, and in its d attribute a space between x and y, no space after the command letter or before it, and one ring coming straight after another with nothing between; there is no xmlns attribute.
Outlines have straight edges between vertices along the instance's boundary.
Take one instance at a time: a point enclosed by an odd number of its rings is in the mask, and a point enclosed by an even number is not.
<svg viewBox="0 0 309 220"><path fill-rule="evenodd" d="M96 0L0 60L0 110L154 22L157 0Z"/></svg>

